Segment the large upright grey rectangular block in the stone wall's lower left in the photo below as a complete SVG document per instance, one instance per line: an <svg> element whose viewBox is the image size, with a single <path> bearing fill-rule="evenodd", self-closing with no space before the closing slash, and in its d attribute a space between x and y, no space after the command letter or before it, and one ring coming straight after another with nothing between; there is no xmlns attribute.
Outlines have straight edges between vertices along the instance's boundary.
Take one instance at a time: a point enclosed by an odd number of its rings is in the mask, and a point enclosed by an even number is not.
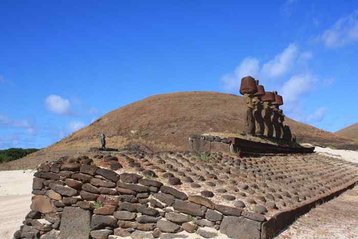
<svg viewBox="0 0 358 239"><path fill-rule="evenodd" d="M91 212L78 207L64 207L61 218L61 238L88 239Z"/></svg>

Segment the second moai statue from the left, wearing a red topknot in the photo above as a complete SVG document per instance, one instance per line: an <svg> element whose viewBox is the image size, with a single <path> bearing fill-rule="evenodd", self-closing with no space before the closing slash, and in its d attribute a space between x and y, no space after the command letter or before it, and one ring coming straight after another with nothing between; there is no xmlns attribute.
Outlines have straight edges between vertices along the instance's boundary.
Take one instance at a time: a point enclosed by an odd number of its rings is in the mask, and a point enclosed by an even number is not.
<svg viewBox="0 0 358 239"><path fill-rule="evenodd" d="M255 105L253 114L255 119L255 126L256 126L256 132L255 134L257 136L262 136L265 131L265 125L263 123L262 118L262 100L261 97L265 94L265 89L263 88L263 85L259 85L259 81L255 80L257 92L254 94L253 103Z"/></svg>

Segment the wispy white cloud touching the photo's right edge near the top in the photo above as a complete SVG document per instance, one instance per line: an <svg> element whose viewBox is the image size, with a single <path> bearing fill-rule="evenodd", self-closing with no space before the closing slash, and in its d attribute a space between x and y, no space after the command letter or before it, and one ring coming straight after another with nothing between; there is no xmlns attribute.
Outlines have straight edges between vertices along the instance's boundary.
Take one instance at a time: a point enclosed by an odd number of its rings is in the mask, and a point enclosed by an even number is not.
<svg viewBox="0 0 358 239"><path fill-rule="evenodd" d="M338 19L316 39L322 41L327 48L339 48L358 42L358 10Z"/></svg>

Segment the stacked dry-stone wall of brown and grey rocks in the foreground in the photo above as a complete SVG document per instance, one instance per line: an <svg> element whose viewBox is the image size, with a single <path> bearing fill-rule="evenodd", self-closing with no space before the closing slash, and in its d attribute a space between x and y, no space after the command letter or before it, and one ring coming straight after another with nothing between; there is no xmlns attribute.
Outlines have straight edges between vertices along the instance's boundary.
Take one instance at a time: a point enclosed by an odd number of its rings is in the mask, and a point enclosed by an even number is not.
<svg viewBox="0 0 358 239"><path fill-rule="evenodd" d="M115 158L115 157L114 157ZM154 177L91 165L92 160L39 165L31 211L18 238L168 238L183 230L215 237L261 235L264 215L187 195Z"/></svg>

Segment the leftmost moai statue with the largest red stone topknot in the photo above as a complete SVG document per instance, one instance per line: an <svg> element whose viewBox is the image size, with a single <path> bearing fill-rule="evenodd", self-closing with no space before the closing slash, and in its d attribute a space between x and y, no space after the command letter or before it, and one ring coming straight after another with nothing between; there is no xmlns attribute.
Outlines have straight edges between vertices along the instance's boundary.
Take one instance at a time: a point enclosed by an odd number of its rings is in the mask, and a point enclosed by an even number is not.
<svg viewBox="0 0 358 239"><path fill-rule="evenodd" d="M244 133L254 135L256 131L255 118L254 118L254 102L253 97L257 92L257 86L255 79L251 76L246 76L241 79L240 94L243 95L246 106L246 118L245 118L245 131Z"/></svg>

